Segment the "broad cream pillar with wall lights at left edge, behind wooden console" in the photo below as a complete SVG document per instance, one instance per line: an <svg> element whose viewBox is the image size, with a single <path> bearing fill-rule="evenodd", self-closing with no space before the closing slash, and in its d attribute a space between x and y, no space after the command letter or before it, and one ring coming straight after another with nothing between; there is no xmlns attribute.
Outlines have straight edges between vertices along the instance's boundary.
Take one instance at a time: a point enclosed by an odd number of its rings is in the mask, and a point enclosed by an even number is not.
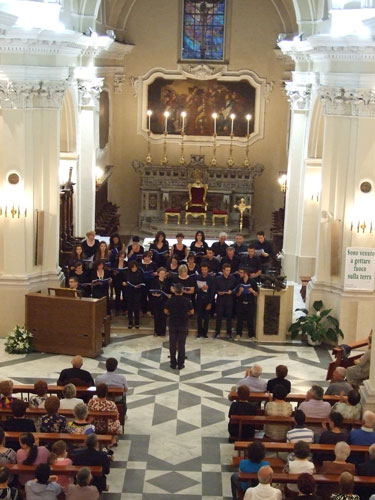
<svg viewBox="0 0 375 500"><path fill-rule="evenodd" d="M0 216L0 335L24 323L24 295L59 286L59 151L60 109L68 72L56 80L0 81L0 190L8 205ZM16 186L8 182L16 173ZM9 207L20 207L14 217ZM25 209L27 213L25 216ZM35 261L36 214L44 224Z"/></svg>

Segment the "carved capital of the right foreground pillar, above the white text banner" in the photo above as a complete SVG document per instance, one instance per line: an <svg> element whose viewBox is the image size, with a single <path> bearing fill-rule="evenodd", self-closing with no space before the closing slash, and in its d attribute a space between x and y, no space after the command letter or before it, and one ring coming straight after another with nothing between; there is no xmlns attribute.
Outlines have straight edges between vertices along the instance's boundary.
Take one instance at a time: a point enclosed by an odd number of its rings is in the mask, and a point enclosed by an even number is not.
<svg viewBox="0 0 375 500"><path fill-rule="evenodd" d="M375 91L371 88L320 85L318 95L326 115L375 116Z"/></svg>

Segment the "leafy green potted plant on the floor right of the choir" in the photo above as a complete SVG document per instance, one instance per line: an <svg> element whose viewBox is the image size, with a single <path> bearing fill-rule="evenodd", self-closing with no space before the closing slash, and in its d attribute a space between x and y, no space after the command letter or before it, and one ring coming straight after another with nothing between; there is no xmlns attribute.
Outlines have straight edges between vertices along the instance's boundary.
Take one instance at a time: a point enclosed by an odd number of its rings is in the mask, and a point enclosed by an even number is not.
<svg viewBox="0 0 375 500"><path fill-rule="evenodd" d="M321 300L313 303L310 313L307 309L296 309L302 311L304 315L290 325L288 331L292 339L298 335L306 335L308 344L320 345L324 340L337 342L339 337L343 337L338 320L330 314L332 309L322 309Z"/></svg>

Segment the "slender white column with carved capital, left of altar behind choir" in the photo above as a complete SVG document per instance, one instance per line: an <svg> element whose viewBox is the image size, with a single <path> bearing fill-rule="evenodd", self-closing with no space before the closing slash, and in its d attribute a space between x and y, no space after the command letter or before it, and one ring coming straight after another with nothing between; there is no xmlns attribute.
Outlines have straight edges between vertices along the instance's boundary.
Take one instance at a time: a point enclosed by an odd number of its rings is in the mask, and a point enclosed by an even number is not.
<svg viewBox="0 0 375 500"><path fill-rule="evenodd" d="M79 164L77 171L77 228L84 236L95 229L96 153L99 147L98 98L102 78L78 79L79 93Z"/></svg>

